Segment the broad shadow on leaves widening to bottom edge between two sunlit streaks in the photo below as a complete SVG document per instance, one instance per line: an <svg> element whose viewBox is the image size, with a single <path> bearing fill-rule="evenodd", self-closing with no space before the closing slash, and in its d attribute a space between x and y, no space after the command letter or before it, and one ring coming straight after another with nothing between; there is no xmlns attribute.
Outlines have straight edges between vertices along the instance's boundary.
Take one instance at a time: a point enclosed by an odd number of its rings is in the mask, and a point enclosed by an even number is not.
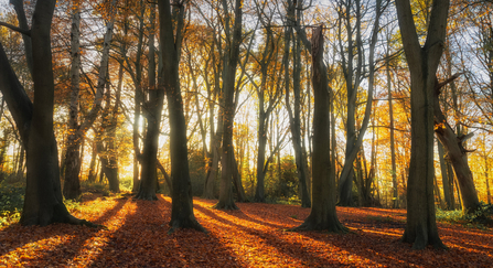
<svg viewBox="0 0 493 268"><path fill-rule="evenodd" d="M90 267L240 267L233 251L214 235L176 229L168 235L171 202L132 201L135 213L110 235Z"/></svg>

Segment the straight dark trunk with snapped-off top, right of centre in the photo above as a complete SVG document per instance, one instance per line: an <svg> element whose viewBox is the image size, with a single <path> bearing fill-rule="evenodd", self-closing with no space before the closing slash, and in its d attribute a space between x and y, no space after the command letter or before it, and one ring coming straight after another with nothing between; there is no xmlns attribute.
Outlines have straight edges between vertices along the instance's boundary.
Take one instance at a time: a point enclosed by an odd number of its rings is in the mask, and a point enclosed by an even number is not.
<svg viewBox="0 0 493 268"><path fill-rule="evenodd" d="M331 174L330 159L330 96L326 67L323 63L323 26L313 31L312 72L313 72L313 189L312 207L304 223L294 231L345 232L335 213L335 178Z"/></svg>

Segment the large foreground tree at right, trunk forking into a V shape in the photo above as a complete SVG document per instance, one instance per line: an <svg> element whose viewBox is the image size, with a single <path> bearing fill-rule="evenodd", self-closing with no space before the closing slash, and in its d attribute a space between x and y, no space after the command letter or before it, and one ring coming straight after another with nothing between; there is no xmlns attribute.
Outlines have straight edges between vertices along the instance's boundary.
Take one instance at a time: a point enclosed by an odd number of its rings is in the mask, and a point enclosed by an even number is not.
<svg viewBox="0 0 493 268"><path fill-rule="evenodd" d="M420 45L409 0L397 0L400 36L411 81L411 158L407 223L403 242L412 248L444 247L435 216L433 93L447 33L449 0L433 0L425 45Z"/></svg>

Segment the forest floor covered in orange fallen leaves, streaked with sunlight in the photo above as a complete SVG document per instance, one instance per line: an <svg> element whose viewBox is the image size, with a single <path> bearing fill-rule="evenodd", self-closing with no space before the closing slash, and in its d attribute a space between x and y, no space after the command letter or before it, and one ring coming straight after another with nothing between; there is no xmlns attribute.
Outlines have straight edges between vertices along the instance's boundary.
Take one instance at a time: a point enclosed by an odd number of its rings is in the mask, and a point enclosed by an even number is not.
<svg viewBox="0 0 493 268"><path fill-rule="evenodd" d="M104 228L66 224L0 228L0 267L491 267L493 232L438 224L449 250L412 250L399 242L406 211L337 207L347 234L293 233L310 208L238 203L239 211L211 208L194 199L208 234L168 234L171 199L85 196L73 215Z"/></svg>

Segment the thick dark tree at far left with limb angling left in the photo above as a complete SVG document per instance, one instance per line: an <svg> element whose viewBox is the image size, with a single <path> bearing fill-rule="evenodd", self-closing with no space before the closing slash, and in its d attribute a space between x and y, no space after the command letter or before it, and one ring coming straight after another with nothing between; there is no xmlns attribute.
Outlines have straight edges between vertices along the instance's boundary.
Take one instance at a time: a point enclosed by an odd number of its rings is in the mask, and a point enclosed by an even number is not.
<svg viewBox="0 0 493 268"><path fill-rule="evenodd" d="M28 178L22 225L90 223L72 216L63 204L56 140L53 132L54 77L51 23L56 1L37 1L32 26L34 103L13 73L0 44L0 89L26 149ZM28 32L25 32L28 33Z"/></svg>

